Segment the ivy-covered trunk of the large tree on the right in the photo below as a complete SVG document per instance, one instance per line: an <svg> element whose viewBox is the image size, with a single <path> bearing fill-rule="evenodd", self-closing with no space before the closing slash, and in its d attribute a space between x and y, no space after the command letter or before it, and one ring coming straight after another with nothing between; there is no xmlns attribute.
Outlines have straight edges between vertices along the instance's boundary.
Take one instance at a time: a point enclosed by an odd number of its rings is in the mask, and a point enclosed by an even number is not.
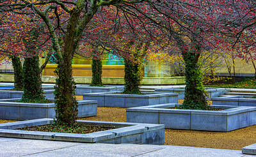
<svg viewBox="0 0 256 157"><path fill-rule="evenodd" d="M183 59L186 64L185 77L185 97L180 108L186 109L207 109L207 101L205 99L205 90L202 83L202 72L198 65L201 47L193 44L187 52L182 52Z"/></svg>

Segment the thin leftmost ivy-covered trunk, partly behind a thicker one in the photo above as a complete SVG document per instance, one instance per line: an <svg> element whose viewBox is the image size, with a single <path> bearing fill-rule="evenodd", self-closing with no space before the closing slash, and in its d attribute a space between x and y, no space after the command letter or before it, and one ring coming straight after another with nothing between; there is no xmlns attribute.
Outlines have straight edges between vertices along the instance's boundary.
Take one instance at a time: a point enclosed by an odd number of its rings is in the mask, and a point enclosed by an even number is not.
<svg viewBox="0 0 256 157"><path fill-rule="evenodd" d="M14 71L14 90L21 91L23 87L22 64L19 57L11 56Z"/></svg>

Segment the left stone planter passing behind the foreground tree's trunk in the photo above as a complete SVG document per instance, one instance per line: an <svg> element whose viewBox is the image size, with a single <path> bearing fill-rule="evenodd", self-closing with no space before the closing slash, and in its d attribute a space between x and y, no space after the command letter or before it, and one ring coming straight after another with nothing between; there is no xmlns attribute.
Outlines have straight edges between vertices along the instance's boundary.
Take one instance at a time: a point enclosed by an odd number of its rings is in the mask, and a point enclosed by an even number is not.
<svg viewBox="0 0 256 157"><path fill-rule="evenodd" d="M19 99L0 100L0 119L26 120L54 118L54 103L19 103ZM97 101L78 100L77 117L97 116Z"/></svg>

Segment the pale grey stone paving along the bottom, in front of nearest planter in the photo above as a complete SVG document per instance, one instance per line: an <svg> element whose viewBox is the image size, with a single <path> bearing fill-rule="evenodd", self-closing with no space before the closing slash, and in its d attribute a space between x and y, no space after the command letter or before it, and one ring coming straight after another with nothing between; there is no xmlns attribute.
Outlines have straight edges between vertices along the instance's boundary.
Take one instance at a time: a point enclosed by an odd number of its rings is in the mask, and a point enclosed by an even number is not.
<svg viewBox="0 0 256 157"><path fill-rule="evenodd" d="M0 156L230 156L249 157L241 151L182 146L84 144L0 137Z"/></svg>

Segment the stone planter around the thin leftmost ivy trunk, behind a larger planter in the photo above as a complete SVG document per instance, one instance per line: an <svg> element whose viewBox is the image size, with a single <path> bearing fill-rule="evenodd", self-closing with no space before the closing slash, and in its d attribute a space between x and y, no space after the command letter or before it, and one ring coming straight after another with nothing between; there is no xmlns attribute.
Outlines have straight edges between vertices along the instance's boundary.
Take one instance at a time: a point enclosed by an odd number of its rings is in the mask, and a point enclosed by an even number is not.
<svg viewBox="0 0 256 157"><path fill-rule="evenodd" d="M23 91L0 90L0 99L22 98ZM45 98L54 99L54 90L44 90Z"/></svg>

